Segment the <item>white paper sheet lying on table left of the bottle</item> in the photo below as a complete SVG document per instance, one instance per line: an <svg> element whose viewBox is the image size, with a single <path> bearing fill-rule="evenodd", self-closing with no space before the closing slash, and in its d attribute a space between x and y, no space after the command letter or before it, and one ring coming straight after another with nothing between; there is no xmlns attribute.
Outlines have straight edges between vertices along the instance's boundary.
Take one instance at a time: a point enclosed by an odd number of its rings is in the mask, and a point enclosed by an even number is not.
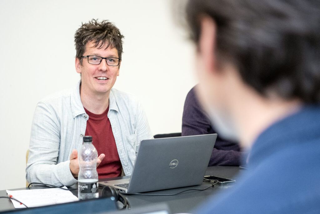
<svg viewBox="0 0 320 214"><path fill-rule="evenodd" d="M39 207L52 204L78 201L78 198L68 190L60 188L31 189L31 190L7 190L7 194L21 201L28 207ZM18 201L11 200L14 208L25 208Z"/></svg>

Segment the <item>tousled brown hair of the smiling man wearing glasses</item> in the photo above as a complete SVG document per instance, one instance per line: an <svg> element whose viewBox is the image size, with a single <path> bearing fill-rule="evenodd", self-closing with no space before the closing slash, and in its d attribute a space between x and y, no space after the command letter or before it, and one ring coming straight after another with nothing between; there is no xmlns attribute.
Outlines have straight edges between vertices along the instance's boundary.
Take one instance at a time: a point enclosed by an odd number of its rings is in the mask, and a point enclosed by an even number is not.
<svg viewBox="0 0 320 214"><path fill-rule="evenodd" d="M80 60L82 64L82 56L85 52L86 44L92 41L99 49L106 46L106 49L111 45L111 48L116 48L119 58L123 53L122 43L124 36L120 33L120 30L110 21L98 19L92 19L88 23L84 23L76 30L75 33L75 46L76 46L76 58Z"/></svg>

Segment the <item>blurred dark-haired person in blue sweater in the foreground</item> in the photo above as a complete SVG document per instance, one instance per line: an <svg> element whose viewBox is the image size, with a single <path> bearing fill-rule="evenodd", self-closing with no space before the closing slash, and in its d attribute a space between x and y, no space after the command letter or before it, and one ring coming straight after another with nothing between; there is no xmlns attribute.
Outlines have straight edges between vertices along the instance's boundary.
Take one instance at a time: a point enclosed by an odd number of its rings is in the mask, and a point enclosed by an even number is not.
<svg viewBox="0 0 320 214"><path fill-rule="evenodd" d="M196 213L320 213L320 1L191 0L197 94L250 149L232 188Z"/></svg>

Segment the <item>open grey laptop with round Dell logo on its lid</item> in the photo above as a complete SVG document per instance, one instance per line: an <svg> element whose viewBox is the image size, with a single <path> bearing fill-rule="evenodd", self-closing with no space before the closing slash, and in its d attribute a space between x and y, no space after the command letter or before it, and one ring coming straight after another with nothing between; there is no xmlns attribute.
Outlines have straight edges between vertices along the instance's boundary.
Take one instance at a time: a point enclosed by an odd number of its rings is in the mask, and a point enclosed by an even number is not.
<svg viewBox="0 0 320 214"><path fill-rule="evenodd" d="M217 134L142 140L129 179L99 182L120 193L202 184Z"/></svg>

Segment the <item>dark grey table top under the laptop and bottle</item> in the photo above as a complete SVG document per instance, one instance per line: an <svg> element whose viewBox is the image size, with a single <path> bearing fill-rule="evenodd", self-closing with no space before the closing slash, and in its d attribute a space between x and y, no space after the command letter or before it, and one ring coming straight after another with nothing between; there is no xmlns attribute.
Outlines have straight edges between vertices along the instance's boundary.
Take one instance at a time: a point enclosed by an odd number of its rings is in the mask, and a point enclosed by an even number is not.
<svg viewBox="0 0 320 214"><path fill-rule="evenodd" d="M239 167L214 166L214 167L207 168L206 175L215 175L219 177L235 179L236 176L242 171L244 171L244 169L241 169ZM128 177L128 176L125 176L125 177ZM119 177L119 179L120 178L121 177ZM101 181L106 181L106 180L108 179L102 179ZM232 189L235 185L237 185L237 183L226 185L226 186L214 185L213 188L209 188L204 191L190 190L185 193L181 193L174 196L125 195L125 197L129 201L132 211L139 209L139 207L141 206L147 206L147 205L149 206L150 204L152 205L152 203L155 203L155 206L156 206L156 203L165 203L168 205L171 213L183 213L183 212L190 212L193 209L195 209L197 206L200 206L211 195L217 194L222 191L228 191L228 189ZM150 194L172 194L172 193L178 193L187 189L204 189L205 187L208 187L208 186L210 186L209 183L203 182L203 184L199 186L156 191L156 192L150 192ZM46 188L46 187L35 186L31 188L38 189L38 188ZM28 188L24 187L24 188L11 189L11 190L23 190L23 189L28 189ZM101 190L102 189L99 190L100 195L101 195ZM77 196L77 190L73 190L71 192ZM6 191L1 190L0 196L7 196ZM0 199L0 211L13 210L13 209L14 207L10 200Z"/></svg>

